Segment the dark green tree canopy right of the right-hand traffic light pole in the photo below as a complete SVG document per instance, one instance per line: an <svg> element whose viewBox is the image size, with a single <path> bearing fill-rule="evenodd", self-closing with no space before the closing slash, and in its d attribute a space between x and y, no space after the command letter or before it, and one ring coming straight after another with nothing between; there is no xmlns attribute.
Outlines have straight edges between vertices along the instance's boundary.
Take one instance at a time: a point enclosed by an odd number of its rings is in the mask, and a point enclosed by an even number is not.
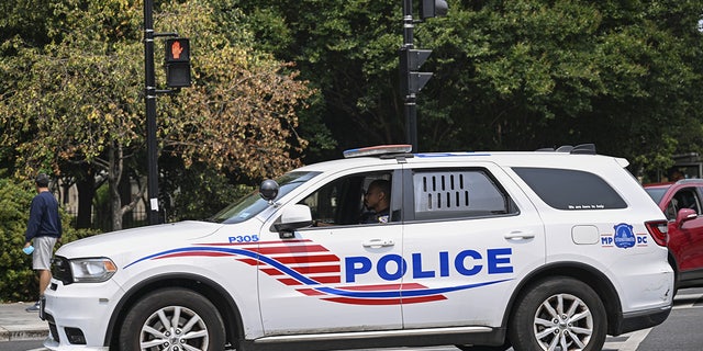
<svg viewBox="0 0 703 351"><path fill-rule="evenodd" d="M490 1L448 16L456 35L431 37L446 63L435 78L450 86L426 93L467 117L450 118L456 137L442 139L510 149L594 141L636 168L662 166L643 161L670 159L684 129L700 131L696 3ZM456 47L460 55L445 52Z"/></svg>

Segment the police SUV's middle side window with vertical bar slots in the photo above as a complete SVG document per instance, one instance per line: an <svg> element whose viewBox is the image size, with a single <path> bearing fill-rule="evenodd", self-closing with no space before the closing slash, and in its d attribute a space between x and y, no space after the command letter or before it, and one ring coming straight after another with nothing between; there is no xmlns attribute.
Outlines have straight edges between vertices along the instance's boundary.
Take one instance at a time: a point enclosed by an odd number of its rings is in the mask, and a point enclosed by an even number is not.
<svg viewBox="0 0 703 351"><path fill-rule="evenodd" d="M413 173L415 219L509 214L509 196L483 170L431 170Z"/></svg>

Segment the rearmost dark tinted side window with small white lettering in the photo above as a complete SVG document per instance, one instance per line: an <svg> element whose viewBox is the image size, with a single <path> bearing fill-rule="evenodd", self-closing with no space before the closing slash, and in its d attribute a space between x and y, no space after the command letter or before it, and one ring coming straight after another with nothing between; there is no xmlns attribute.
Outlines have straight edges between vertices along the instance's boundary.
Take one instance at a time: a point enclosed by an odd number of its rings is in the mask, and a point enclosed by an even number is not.
<svg viewBox="0 0 703 351"><path fill-rule="evenodd" d="M571 169L513 168L537 195L557 210L626 208L627 204L601 177Z"/></svg>

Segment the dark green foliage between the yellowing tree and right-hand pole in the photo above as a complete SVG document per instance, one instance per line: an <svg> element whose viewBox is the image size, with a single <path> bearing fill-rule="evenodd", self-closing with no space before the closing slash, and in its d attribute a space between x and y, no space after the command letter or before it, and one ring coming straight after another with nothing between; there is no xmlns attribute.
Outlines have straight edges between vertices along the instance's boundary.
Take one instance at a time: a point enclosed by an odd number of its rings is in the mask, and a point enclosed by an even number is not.
<svg viewBox="0 0 703 351"><path fill-rule="evenodd" d="M319 155L404 140L403 105L398 94L398 54L402 44L401 1L233 1L246 13L255 45L295 61L317 88L301 128ZM327 132L328 131L328 132ZM334 143L330 143L330 139Z"/></svg>

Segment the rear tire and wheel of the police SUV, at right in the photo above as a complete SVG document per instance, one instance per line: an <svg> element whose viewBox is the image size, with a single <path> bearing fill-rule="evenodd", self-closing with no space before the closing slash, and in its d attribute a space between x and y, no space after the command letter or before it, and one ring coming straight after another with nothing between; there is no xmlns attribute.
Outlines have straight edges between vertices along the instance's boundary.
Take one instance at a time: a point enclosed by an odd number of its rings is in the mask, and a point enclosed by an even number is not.
<svg viewBox="0 0 703 351"><path fill-rule="evenodd" d="M515 351L600 351L607 320L599 295L585 283L557 276L528 287L509 321Z"/></svg>

